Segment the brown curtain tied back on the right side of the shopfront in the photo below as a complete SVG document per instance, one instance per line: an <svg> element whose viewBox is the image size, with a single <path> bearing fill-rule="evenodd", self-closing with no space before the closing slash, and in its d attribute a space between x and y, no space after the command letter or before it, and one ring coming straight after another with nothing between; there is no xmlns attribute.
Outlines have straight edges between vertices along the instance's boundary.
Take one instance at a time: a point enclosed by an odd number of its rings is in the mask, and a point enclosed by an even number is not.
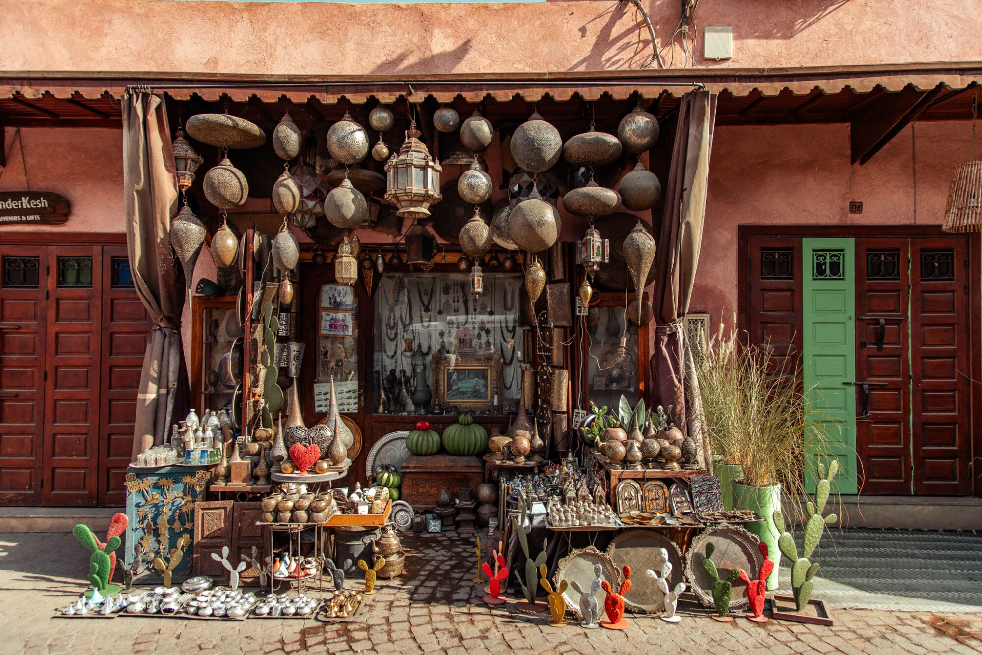
<svg viewBox="0 0 982 655"><path fill-rule="evenodd" d="M682 97L665 185L665 208L656 222L658 250L652 295L654 330L650 360L654 403L665 407L676 427L693 431L686 410L685 334L706 212L706 183L716 123L716 95L707 90ZM690 375L690 374L689 374ZM670 409L671 406L671 409ZM701 430L692 435L698 445Z"/></svg>

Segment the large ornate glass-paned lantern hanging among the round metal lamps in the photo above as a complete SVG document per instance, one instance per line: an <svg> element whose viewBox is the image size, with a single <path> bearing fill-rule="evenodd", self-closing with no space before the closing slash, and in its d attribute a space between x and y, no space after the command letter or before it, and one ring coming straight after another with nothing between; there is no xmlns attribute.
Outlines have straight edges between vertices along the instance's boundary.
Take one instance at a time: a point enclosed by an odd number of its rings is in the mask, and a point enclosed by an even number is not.
<svg viewBox="0 0 982 655"><path fill-rule="evenodd" d="M443 168L419 141L421 134L413 124L399 154L385 164L385 198L399 208L396 213L403 217L426 218L430 215L429 207L443 199L440 195Z"/></svg>

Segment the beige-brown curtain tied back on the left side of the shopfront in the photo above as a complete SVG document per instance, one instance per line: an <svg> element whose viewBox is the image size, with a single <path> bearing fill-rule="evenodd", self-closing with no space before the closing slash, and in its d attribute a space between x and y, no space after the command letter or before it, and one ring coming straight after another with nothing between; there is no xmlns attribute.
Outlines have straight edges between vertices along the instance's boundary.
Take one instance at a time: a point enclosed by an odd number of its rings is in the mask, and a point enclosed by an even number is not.
<svg viewBox="0 0 982 655"><path fill-rule="evenodd" d="M163 442L175 402L182 398L183 407L188 389L181 346L185 290L170 242L178 188L167 108L159 95L138 92L124 98L123 185L130 268L153 321L136 399L136 460L141 450Z"/></svg>

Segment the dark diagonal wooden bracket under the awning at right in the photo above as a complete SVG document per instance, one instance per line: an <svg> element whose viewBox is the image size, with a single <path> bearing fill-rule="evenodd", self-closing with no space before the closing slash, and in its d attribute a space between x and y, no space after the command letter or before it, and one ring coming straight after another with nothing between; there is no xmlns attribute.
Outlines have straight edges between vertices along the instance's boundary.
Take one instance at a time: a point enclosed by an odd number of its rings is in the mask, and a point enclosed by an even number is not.
<svg viewBox="0 0 982 655"><path fill-rule="evenodd" d="M941 95L944 85L919 91L908 85L849 115L852 163L864 164L889 144L917 115Z"/></svg>

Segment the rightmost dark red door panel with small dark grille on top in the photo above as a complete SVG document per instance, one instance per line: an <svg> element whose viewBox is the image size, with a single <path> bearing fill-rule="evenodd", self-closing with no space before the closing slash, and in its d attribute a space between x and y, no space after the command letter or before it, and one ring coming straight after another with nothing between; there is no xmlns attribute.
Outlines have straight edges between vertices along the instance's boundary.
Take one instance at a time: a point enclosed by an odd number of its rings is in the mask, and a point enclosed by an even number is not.
<svg viewBox="0 0 982 655"><path fill-rule="evenodd" d="M968 253L963 239L913 240L910 253L914 492L968 494L971 402Z"/></svg>

